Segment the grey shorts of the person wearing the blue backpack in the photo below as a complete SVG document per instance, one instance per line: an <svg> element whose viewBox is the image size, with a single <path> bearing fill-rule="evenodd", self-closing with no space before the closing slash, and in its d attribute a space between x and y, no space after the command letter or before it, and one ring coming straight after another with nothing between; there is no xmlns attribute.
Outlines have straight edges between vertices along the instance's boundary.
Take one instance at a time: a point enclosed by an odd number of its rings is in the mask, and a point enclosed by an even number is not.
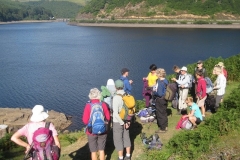
<svg viewBox="0 0 240 160"><path fill-rule="evenodd" d="M97 152L105 150L107 134L102 135L88 135L88 145L90 152Z"/></svg>

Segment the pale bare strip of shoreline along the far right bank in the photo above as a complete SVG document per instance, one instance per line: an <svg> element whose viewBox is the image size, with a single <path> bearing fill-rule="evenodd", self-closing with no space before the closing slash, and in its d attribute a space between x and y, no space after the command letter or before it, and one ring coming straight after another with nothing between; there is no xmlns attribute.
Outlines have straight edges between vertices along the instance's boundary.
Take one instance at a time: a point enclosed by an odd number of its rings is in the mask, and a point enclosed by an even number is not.
<svg viewBox="0 0 240 160"><path fill-rule="evenodd" d="M85 27L129 27L129 28L213 28L213 29L240 29L240 24L123 24L123 23L73 23L69 25Z"/></svg>

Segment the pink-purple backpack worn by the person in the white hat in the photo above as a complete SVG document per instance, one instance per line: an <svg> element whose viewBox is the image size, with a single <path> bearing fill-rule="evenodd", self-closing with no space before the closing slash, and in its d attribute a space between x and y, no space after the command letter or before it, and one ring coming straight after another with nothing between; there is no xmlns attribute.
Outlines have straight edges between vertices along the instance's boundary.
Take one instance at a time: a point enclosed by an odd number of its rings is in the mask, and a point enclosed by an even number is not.
<svg viewBox="0 0 240 160"><path fill-rule="evenodd" d="M58 160L60 149L54 144L52 131L49 129L50 122L33 133L32 160ZM31 149L30 149L31 150ZM27 155L26 155L27 156Z"/></svg>

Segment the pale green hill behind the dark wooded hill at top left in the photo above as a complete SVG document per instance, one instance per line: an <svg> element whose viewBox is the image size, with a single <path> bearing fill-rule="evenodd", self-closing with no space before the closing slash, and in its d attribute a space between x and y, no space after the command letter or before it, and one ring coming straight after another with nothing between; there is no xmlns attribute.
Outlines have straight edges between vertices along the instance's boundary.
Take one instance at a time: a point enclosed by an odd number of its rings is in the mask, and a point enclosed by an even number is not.
<svg viewBox="0 0 240 160"><path fill-rule="evenodd" d="M55 18L75 18L81 8L80 5L67 1L32 1L24 4L49 9Z"/></svg>

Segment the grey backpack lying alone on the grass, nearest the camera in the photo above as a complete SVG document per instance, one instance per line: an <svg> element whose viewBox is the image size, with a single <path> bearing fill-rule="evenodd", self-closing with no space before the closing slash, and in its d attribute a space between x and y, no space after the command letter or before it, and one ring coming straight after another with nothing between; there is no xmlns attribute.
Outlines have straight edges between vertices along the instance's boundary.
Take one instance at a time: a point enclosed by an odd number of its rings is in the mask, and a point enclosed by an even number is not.
<svg viewBox="0 0 240 160"><path fill-rule="evenodd" d="M158 134L151 135L149 138L145 136L145 133L141 133L140 135L142 142L147 146L147 149L150 150L160 150L162 149L162 142L158 136Z"/></svg>

